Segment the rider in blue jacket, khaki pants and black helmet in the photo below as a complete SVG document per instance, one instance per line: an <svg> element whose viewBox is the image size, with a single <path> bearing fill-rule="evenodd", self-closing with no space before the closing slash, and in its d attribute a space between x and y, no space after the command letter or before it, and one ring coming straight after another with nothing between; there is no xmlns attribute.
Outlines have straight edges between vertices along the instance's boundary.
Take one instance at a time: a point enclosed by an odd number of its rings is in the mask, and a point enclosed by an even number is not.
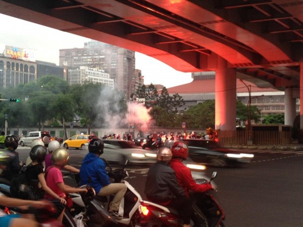
<svg viewBox="0 0 303 227"><path fill-rule="evenodd" d="M80 167L81 185L89 184L94 188L96 195L113 195L114 199L110 203L109 212L113 217L122 218L119 215L119 206L124 197L127 187L122 183L112 183L106 172L105 162L99 158L103 154L104 142L100 139L92 139L88 144L88 154L84 157ZM89 180L90 178L90 180Z"/></svg>

